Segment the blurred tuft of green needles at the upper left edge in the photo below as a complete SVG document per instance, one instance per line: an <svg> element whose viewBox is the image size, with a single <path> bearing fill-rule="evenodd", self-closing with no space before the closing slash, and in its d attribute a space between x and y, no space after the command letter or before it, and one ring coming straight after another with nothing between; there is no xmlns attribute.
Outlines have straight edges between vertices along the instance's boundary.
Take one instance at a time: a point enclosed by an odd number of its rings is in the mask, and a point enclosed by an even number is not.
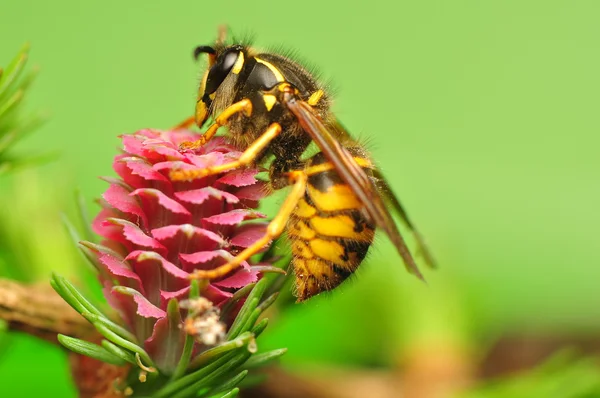
<svg viewBox="0 0 600 398"><path fill-rule="evenodd" d="M0 68L0 175L45 158L15 157L8 153L42 122L39 115L23 116L23 100L37 74L33 70L24 75L28 53L29 45L25 45L5 69Z"/></svg>

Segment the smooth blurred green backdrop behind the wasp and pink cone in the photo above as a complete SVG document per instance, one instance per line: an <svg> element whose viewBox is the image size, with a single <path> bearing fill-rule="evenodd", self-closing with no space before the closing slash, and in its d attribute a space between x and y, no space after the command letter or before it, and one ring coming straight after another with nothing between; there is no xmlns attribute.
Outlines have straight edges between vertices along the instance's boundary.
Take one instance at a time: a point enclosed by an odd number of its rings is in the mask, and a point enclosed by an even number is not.
<svg viewBox="0 0 600 398"><path fill-rule="evenodd" d="M425 286L380 236L353 281L281 314L261 348L289 347L290 368L385 366L416 343L477 356L506 333L599 336L599 18L593 0L3 0L0 65L31 42L41 73L29 107L50 113L17 149L61 157L0 189L35 181L72 207L78 186L91 203L118 134L191 115L192 49L227 23L331 78L334 110L368 138L441 264ZM0 394L74 396L65 363L14 337Z"/></svg>

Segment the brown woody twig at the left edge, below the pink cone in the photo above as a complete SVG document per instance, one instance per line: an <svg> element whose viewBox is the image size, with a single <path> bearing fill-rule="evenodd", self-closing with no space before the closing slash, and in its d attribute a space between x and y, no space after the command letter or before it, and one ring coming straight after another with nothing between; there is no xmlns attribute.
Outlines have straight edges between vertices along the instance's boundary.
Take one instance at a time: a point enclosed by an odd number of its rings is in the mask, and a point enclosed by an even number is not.
<svg viewBox="0 0 600 398"><path fill-rule="evenodd" d="M58 344L58 333L83 337L94 330L47 283L26 285L0 279L0 319L8 323L9 330L54 344Z"/></svg>

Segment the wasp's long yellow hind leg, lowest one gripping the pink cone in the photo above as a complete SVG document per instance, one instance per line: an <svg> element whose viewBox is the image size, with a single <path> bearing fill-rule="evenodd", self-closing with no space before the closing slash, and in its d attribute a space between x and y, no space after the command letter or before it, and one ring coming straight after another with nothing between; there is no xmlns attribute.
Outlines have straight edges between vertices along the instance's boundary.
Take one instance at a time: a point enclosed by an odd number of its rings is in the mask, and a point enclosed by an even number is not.
<svg viewBox="0 0 600 398"><path fill-rule="evenodd" d="M253 255L257 254L262 248L268 245L273 239L278 238L285 229L287 221L292 212L298 205L300 199L306 191L306 181L308 179L304 171L292 171L288 173L288 178L294 184L288 197L283 202L279 212L267 226L267 231L259 240L252 246L246 248L240 254L235 256L227 264L221 265L212 270L197 270L191 273L189 279L215 279L227 275L239 267L244 261L248 260Z"/></svg>

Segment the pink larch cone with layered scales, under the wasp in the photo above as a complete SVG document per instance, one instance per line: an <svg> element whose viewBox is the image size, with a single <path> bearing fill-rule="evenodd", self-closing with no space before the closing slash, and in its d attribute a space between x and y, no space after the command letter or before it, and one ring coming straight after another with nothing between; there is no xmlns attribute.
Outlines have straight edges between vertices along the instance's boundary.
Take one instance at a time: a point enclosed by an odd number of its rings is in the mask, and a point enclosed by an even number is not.
<svg viewBox="0 0 600 398"><path fill-rule="evenodd" d="M169 319L169 300L187 299L191 272L225 264L261 237L266 226L264 221L246 222L264 218L253 210L266 194L265 184L255 178L259 170L189 182L169 179L171 170L220 165L240 156L219 137L196 151L179 151L182 142L197 138L183 130L122 136L123 153L113 164L120 178L105 178L110 187L93 223L104 239L101 245L82 242L100 270L109 304L166 374L178 363L186 330L183 309ZM236 290L255 282L259 270L244 263L210 281L200 295L221 307ZM187 304L183 307L189 308ZM229 314L224 327L231 316L235 314ZM195 352L202 342L208 344L200 341Z"/></svg>

